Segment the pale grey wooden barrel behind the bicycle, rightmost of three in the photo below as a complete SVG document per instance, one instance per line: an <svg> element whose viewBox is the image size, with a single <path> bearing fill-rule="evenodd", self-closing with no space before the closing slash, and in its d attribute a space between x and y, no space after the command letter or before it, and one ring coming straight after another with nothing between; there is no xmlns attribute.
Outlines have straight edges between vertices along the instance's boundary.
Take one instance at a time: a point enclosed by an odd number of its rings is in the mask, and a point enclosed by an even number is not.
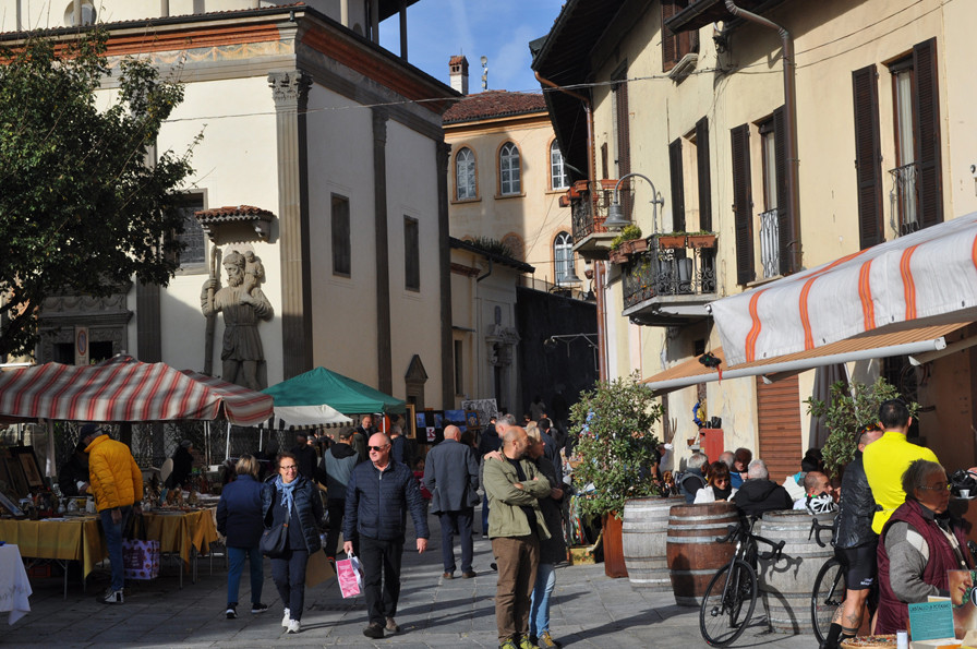
<svg viewBox="0 0 977 649"><path fill-rule="evenodd" d="M834 513L818 514L821 525L830 526ZM771 541L786 541L776 562L760 561L759 589L767 606L770 628L776 633L813 633L811 626L811 590L818 570L834 556L831 543L824 548L807 536L813 515L807 512L768 512L755 531ZM822 534L823 537L824 534ZM770 548L760 544L760 552Z"/></svg>

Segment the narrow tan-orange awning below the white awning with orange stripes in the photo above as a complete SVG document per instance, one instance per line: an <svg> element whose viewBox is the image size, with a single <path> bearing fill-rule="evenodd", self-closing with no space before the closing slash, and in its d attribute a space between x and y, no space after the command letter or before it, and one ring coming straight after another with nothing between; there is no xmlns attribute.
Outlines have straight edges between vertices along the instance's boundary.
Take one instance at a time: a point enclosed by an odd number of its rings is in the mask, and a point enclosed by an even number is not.
<svg viewBox="0 0 977 649"><path fill-rule="evenodd" d="M662 395L710 381L744 376L767 376L775 380L822 365L892 356L939 352L948 347L945 337L967 324L969 323L914 327L889 333L869 332L823 347L738 365L727 364L725 351L720 347L711 352L721 361L717 368L707 368L699 362L698 358L693 358L650 376L643 383L656 395Z"/></svg>

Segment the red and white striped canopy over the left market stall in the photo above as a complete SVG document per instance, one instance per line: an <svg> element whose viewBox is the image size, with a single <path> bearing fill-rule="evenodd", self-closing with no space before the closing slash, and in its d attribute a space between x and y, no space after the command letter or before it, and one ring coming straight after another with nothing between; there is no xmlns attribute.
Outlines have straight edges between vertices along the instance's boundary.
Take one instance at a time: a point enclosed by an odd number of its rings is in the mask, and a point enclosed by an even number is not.
<svg viewBox="0 0 977 649"><path fill-rule="evenodd" d="M176 421L225 417L257 425L270 396L166 363L117 357L99 365L45 363L0 372L0 417L70 421Z"/></svg>

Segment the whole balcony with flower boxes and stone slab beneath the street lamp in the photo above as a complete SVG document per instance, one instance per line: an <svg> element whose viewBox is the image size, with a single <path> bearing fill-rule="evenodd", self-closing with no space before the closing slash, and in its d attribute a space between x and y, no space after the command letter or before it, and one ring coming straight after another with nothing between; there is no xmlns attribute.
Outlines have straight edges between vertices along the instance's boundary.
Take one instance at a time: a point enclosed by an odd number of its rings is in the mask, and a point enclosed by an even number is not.
<svg viewBox="0 0 977 649"><path fill-rule="evenodd" d="M622 266L624 311L631 322L650 326L686 325L708 317L716 299L715 236L653 236L646 252Z"/></svg>

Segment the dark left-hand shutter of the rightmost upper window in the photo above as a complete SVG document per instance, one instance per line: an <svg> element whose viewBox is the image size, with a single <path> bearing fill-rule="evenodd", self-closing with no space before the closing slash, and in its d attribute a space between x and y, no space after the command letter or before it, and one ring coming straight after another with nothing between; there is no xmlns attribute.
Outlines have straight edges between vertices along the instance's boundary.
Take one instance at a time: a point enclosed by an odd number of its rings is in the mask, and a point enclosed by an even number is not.
<svg viewBox="0 0 977 649"><path fill-rule="evenodd" d="M884 241L882 221L882 144L879 135L879 85L876 67L852 73L855 103L855 179L858 188L858 245Z"/></svg>

